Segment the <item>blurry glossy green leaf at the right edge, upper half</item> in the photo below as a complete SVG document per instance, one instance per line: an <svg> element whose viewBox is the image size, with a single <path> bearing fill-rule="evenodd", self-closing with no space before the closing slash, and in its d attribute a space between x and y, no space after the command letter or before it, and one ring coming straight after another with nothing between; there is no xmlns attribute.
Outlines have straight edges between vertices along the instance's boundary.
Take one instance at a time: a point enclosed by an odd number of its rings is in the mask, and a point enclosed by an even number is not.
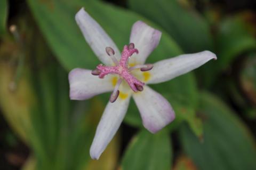
<svg viewBox="0 0 256 170"><path fill-rule="evenodd" d="M225 69L237 56L256 51L256 39L240 16L222 20L217 36L218 66Z"/></svg>

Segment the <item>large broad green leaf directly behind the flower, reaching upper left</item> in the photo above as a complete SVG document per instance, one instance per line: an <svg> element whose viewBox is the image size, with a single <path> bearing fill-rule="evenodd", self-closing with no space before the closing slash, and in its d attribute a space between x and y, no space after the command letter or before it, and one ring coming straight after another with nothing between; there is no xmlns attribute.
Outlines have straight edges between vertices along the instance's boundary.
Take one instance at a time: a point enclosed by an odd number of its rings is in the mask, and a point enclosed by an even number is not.
<svg viewBox="0 0 256 170"><path fill-rule="evenodd" d="M100 1L42 2L28 0L28 3L47 43L67 70L76 67L93 69L100 63L85 42L81 31L75 23L75 13L81 7L84 7L100 23L103 29L113 38L119 49L122 49L124 44L129 43L131 27L135 21L142 20L150 26L159 28L138 14ZM178 45L163 31L159 46L149 56L147 62L154 63L181 53L182 51ZM181 86L181 84L184 84L184 86ZM182 107L187 108L190 107L191 103L196 103L196 86L194 77L191 74L176 78L170 84L167 82L158 86L164 87L165 90L162 94ZM186 102L184 102L185 100ZM189 103L189 106L187 103ZM191 108L193 109L194 105ZM138 109L133 102L131 102L125 122L134 126L142 126Z"/></svg>

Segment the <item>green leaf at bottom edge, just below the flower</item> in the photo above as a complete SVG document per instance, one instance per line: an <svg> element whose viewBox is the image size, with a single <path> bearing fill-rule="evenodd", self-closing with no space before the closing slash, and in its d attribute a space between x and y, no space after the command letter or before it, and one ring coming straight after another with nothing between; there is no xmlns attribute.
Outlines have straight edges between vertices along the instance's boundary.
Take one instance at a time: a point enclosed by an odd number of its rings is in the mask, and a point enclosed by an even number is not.
<svg viewBox="0 0 256 170"><path fill-rule="evenodd" d="M171 141L166 131L151 134L142 130L133 138L125 151L121 168L123 170L171 169Z"/></svg>

